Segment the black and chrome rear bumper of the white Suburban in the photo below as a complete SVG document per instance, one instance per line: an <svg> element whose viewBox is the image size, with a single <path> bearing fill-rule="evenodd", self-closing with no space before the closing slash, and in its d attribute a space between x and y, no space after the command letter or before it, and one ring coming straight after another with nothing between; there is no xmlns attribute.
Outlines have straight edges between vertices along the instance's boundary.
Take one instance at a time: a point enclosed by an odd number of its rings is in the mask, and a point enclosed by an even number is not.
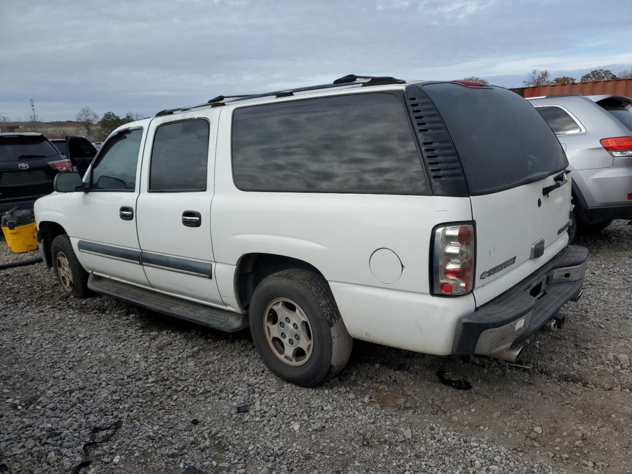
<svg viewBox="0 0 632 474"><path fill-rule="evenodd" d="M494 356L520 346L567 301L580 298L587 259L588 249L569 245L516 286L462 317L453 353Z"/></svg>

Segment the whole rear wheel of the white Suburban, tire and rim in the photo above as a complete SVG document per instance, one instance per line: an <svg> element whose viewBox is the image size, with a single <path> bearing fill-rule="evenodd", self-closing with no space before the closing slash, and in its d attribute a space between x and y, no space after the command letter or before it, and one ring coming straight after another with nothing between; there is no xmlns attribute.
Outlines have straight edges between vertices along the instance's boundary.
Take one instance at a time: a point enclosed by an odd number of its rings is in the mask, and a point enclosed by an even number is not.
<svg viewBox="0 0 632 474"><path fill-rule="evenodd" d="M282 270L258 284L250 331L272 373L303 387L338 374L353 346L327 281L303 269Z"/></svg>

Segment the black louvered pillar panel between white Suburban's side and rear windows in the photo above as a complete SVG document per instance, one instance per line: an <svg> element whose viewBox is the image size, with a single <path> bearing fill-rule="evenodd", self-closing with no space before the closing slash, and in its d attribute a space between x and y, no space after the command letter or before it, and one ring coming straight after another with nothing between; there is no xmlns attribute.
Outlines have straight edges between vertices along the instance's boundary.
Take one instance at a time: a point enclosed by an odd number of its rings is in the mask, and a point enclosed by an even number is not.
<svg viewBox="0 0 632 474"><path fill-rule="evenodd" d="M435 196L468 196L461 159L437 107L416 85L406 87L405 95L432 192Z"/></svg>

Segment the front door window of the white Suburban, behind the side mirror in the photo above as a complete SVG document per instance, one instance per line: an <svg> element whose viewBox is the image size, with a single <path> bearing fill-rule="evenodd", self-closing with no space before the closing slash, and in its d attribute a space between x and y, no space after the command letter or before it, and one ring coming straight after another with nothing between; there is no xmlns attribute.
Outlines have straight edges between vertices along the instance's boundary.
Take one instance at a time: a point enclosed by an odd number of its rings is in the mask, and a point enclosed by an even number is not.
<svg viewBox="0 0 632 474"><path fill-rule="evenodd" d="M133 191L136 186L136 168L140 128L126 130L107 140L99 158L92 166L92 188L109 191Z"/></svg>

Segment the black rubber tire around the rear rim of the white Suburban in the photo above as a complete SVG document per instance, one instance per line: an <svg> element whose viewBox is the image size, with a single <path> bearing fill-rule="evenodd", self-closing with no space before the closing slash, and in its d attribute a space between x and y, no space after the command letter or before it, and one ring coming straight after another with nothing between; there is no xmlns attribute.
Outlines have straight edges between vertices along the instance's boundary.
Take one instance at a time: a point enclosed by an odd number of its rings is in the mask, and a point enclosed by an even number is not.
<svg viewBox="0 0 632 474"><path fill-rule="evenodd" d="M283 362L273 352L274 344L268 342L264 324L273 314L269 305L279 299L294 302L307 316L313 346L302 365ZM303 269L281 270L258 284L250 302L250 332L270 371L302 387L317 386L336 376L348 362L353 347L329 284L319 274ZM276 341L283 343L281 339Z"/></svg>

